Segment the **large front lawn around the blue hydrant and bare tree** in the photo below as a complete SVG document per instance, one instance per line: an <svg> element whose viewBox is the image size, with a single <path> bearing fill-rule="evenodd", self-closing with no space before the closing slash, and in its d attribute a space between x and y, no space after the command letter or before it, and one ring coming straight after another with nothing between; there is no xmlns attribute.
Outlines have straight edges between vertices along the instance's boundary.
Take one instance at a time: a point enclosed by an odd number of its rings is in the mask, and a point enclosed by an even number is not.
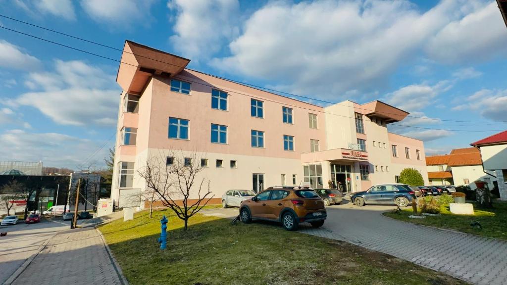
<svg viewBox="0 0 507 285"><path fill-rule="evenodd" d="M159 220L168 216L167 250ZM464 284L346 242L269 223L196 215L189 230L169 210L136 213L99 227L130 284Z"/></svg>

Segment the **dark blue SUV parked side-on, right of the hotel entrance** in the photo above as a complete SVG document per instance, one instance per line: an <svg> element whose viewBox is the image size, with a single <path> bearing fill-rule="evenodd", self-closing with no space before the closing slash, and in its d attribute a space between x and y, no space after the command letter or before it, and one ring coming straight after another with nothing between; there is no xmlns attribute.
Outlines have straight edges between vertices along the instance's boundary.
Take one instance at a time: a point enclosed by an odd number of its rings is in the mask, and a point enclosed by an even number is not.
<svg viewBox="0 0 507 285"><path fill-rule="evenodd" d="M415 191L406 184L379 184L367 191L354 193L350 201L356 206L365 204L395 204L406 207L415 198Z"/></svg>

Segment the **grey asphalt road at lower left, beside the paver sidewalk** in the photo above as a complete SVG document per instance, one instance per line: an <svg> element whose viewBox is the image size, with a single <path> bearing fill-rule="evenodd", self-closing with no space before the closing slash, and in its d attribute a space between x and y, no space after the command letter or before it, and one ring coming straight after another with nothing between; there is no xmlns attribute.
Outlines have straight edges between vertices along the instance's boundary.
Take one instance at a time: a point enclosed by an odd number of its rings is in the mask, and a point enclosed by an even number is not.
<svg viewBox="0 0 507 285"><path fill-rule="evenodd" d="M78 224L81 224L78 220ZM23 262L39 252L41 246L57 232L70 228L70 221L60 218L43 219L40 223L26 225L19 221L17 225L0 226L0 284L5 282Z"/></svg>

